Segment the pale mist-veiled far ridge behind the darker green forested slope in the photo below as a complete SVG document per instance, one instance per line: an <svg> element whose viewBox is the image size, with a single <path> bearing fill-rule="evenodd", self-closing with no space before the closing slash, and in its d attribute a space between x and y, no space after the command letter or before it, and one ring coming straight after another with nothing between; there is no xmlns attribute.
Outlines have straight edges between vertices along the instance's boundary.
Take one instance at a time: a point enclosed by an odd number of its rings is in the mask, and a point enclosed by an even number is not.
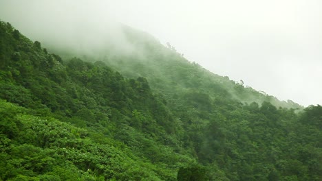
<svg viewBox="0 0 322 181"><path fill-rule="evenodd" d="M66 58L78 56L88 62L103 61L120 71L125 77L146 77L151 88L160 90L162 93L169 93L171 97L175 94L184 95L189 91L197 91L206 93L213 99L236 99L235 101L242 104L255 101L260 105L263 101L268 101L277 108L280 106L303 108L291 100L279 101L272 95L244 86L242 81L236 82L229 80L229 77L211 73L199 64L186 60L169 43L167 47L164 47L146 32L125 25L120 25L119 29L121 33L118 33L118 36L122 39L124 47L118 43L114 43L115 46L106 43L103 44L105 47L92 49L91 46L94 45L81 36L76 36L77 39L74 40L81 42L78 46L82 47L80 49L61 47L55 43L48 43L48 45L54 52ZM83 51L84 47L92 51Z"/></svg>

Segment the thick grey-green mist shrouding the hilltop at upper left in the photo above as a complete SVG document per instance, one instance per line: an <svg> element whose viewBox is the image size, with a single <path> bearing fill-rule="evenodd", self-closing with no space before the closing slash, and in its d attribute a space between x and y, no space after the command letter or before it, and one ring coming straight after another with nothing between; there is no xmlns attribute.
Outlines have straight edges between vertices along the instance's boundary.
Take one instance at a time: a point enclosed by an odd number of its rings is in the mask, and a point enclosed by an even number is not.
<svg viewBox="0 0 322 181"><path fill-rule="evenodd" d="M22 34L44 47L72 56L104 56L104 51L133 53L125 25L81 1L1 1L2 21L9 21ZM108 11L107 11L108 12ZM100 58L100 57L97 57Z"/></svg>

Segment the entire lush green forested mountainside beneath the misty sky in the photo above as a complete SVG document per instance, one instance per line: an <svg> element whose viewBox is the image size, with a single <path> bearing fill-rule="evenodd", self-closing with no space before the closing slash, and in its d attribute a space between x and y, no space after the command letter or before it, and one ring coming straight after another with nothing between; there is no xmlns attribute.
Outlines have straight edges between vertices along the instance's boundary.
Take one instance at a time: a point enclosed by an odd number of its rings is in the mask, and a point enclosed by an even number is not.
<svg viewBox="0 0 322 181"><path fill-rule="evenodd" d="M84 62L0 23L0 180L322 180L321 106L124 31L140 54Z"/></svg>

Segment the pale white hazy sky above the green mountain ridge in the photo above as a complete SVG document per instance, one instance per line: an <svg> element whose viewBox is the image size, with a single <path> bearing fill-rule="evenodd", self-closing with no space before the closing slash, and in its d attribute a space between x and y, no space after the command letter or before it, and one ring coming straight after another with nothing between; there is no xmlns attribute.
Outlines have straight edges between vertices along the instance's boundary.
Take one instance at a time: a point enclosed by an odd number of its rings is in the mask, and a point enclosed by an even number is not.
<svg viewBox="0 0 322 181"><path fill-rule="evenodd" d="M321 12L320 0L0 0L0 19L31 38L86 24L83 32L96 32L89 40L118 21L213 73L304 106L322 104Z"/></svg>

